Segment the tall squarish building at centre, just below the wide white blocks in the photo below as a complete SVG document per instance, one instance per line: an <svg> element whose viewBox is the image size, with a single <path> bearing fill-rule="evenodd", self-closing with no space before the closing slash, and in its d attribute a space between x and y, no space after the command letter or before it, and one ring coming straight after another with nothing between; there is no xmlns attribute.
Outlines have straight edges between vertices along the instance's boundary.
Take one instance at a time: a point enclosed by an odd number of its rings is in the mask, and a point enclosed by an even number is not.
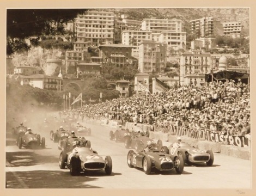
<svg viewBox="0 0 256 196"><path fill-rule="evenodd" d="M140 72L164 72L167 44L142 41L139 44L138 69Z"/></svg>

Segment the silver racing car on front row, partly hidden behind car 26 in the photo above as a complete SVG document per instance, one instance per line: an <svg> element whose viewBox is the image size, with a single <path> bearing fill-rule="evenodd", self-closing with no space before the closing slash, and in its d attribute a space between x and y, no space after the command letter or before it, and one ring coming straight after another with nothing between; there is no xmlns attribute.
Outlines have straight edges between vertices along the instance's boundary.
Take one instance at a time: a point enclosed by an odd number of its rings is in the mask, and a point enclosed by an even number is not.
<svg viewBox="0 0 256 196"><path fill-rule="evenodd" d="M212 150L199 150L186 142L181 142L178 148L176 148L174 144L170 145L169 148L167 148L167 146L162 146L161 151L169 154L171 157L177 155L182 156L184 162L187 164L206 162L208 166L212 166L214 163L214 154Z"/></svg>

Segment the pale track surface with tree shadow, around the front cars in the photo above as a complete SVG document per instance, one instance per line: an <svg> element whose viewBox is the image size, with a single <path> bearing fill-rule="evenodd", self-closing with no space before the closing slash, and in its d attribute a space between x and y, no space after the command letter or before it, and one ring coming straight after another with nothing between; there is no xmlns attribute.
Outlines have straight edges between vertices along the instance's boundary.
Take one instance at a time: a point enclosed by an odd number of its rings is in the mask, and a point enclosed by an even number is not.
<svg viewBox="0 0 256 196"><path fill-rule="evenodd" d="M69 169L59 169L60 150L57 143L50 140L50 130L34 131L46 138L46 148L38 150L19 149L7 132L7 188L251 188L251 161L214 154L212 167L206 164L197 167L186 165L181 175L175 170L146 175L141 169L127 166L129 149L125 149L124 143L109 140L111 128L84 125L92 129L92 136L86 137L92 148L103 158L111 156L113 170L110 176L103 170L71 176Z"/></svg>

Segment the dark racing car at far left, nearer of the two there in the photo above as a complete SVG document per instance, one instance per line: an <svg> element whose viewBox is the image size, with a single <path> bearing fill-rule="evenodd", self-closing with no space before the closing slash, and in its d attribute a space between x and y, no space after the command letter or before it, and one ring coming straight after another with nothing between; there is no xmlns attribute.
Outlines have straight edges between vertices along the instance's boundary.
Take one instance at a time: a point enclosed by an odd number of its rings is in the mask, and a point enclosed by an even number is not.
<svg viewBox="0 0 256 196"><path fill-rule="evenodd" d="M45 138L42 137L40 134L34 134L34 133L28 133L28 134L20 134L19 138L17 139L17 144L19 146L19 149L22 148L22 146L24 148L37 148L40 147L41 148L45 148Z"/></svg>

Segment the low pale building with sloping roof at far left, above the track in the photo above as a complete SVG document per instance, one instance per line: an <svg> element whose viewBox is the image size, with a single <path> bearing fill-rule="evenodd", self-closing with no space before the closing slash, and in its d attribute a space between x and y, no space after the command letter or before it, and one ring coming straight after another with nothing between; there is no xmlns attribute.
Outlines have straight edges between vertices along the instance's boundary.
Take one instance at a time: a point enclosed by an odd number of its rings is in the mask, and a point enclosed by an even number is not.
<svg viewBox="0 0 256 196"><path fill-rule="evenodd" d="M21 85L29 84L32 87L40 89L61 91L63 87L62 78L57 76L48 76L44 74L35 74L31 76L20 76Z"/></svg>

